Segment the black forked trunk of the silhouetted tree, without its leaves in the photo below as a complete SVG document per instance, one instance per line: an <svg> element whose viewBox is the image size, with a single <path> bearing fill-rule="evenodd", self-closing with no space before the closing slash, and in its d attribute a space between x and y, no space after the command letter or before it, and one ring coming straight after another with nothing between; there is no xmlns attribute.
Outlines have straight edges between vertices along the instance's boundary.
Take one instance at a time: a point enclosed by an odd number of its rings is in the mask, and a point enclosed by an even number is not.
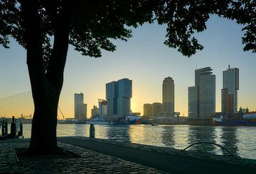
<svg viewBox="0 0 256 174"><path fill-rule="evenodd" d="M28 73L35 108L29 149L34 153L50 153L57 148L58 100L68 52L68 19L62 15L54 21L53 50L46 68L43 64L42 19L38 16L38 4L25 0L21 2L21 7L26 30ZM52 17L56 17L54 11Z"/></svg>

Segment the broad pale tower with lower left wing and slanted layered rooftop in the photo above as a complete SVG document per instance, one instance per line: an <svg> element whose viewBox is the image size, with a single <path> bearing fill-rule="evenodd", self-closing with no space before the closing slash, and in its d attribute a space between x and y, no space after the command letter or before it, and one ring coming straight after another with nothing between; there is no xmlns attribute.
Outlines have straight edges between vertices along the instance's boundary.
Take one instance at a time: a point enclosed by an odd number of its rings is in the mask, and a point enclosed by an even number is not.
<svg viewBox="0 0 256 174"><path fill-rule="evenodd" d="M188 87L188 118L208 119L215 113L215 75L206 67L195 70L195 86Z"/></svg>

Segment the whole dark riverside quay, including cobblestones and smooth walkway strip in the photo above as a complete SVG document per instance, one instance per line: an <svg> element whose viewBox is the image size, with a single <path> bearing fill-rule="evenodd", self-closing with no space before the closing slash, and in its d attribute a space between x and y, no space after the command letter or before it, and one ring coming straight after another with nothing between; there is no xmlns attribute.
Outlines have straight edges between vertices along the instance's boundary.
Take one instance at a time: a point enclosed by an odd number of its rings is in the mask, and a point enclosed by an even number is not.
<svg viewBox="0 0 256 174"><path fill-rule="evenodd" d="M0 141L0 173L256 173L256 161L88 137L58 137L73 158L17 161L30 139Z"/></svg>

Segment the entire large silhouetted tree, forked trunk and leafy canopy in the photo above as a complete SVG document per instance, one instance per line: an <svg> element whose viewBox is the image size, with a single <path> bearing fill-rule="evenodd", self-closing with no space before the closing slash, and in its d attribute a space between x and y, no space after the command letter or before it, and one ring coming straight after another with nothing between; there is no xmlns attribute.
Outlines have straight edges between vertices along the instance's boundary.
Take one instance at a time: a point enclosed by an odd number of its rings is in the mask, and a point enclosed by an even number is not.
<svg viewBox="0 0 256 174"><path fill-rule="evenodd" d="M166 26L165 45L190 57L203 46L193 36L215 14L242 24L245 51L256 52L254 0L0 0L0 44L26 49L34 101L30 149L57 147L56 126L68 45L82 55L113 52L112 40L131 37L143 23Z"/></svg>

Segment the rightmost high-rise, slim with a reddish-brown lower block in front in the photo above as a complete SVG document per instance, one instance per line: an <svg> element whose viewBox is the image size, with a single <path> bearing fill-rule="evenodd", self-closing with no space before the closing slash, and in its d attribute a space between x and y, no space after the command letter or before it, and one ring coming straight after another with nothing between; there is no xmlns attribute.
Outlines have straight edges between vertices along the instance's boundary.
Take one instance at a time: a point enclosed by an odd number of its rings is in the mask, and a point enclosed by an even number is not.
<svg viewBox="0 0 256 174"><path fill-rule="evenodd" d="M221 90L221 112L238 112L239 69L223 71L223 89Z"/></svg>

